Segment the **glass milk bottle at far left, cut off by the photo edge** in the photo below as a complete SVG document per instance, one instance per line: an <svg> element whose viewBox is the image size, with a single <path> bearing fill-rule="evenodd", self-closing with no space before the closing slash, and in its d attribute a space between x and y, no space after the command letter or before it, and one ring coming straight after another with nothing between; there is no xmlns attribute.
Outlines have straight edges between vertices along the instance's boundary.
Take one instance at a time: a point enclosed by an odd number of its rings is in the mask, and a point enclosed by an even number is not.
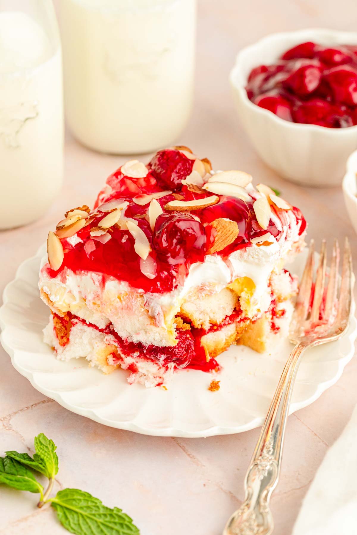
<svg viewBox="0 0 357 535"><path fill-rule="evenodd" d="M50 0L0 0L0 229L43 215L63 172L62 65Z"/></svg>

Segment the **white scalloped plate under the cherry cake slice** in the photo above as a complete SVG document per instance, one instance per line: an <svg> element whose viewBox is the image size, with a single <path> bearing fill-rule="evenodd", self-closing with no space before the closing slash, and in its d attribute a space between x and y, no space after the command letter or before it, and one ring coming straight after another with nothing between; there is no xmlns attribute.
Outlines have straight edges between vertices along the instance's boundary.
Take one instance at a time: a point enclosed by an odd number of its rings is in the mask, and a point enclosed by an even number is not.
<svg viewBox="0 0 357 535"><path fill-rule="evenodd" d="M48 308L37 289L41 247L22 263L4 291L1 342L21 375L66 409L119 429L171 437L209 437L260 426L292 346L282 340L274 354L232 346L218 357L221 388L209 392L212 376L196 370L174 374L168 391L129 385L127 372L110 376L89 368L85 359L58 361L42 341ZM300 274L306 253L290 265ZM354 353L357 322L351 318L343 338L307 351L295 384L291 410L315 401L341 376Z"/></svg>

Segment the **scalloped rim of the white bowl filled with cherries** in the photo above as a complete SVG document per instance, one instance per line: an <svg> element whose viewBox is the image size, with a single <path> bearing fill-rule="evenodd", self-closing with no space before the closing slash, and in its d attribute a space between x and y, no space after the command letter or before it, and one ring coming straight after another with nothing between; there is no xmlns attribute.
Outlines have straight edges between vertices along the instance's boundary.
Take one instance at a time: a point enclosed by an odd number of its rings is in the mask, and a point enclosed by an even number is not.
<svg viewBox="0 0 357 535"><path fill-rule="evenodd" d="M266 46L268 43L270 43L272 40L278 40L278 39L286 39L287 37L293 36L306 36L308 39L313 39L313 34L315 36L319 35L326 35L329 34L331 36L341 36L350 37L350 39L353 39L356 41L357 44L357 32L345 32L343 30L333 30L328 28L305 28L301 30L294 30L292 32L276 32L269 35L265 35L262 37L259 41L256 41L253 44L249 44L246 47L242 48L237 56L236 56L236 62L234 63L233 68L231 69L229 80L231 83L231 86L234 90L238 91L240 93L240 96L242 98L243 103L253 110L255 113L260 113L263 116L269 118L269 120L277 123L280 126L284 126L284 128L300 128L301 130L305 129L306 132L321 132L324 133L324 135L328 136L336 136L339 135L350 135L351 133L357 132L357 125L354 126L348 126L347 128L328 128L326 126L320 126L320 125L310 125L305 123L293 123L292 121L287 121L285 119L282 119L278 117L275 113L271 112L270 110L266 110L265 108L261 108L260 106L257 106L252 101L249 100L247 91L245 88L245 85L242 85L241 83L237 82L237 73L240 73L240 60L241 57L244 56L248 51L252 49L258 49Z"/></svg>

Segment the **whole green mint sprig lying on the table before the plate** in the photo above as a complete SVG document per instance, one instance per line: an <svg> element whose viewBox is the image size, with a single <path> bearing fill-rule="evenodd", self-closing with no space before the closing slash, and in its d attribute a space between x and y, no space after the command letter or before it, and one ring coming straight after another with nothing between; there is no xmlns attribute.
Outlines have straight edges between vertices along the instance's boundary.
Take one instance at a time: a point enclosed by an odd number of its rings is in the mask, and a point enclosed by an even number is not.
<svg viewBox="0 0 357 535"><path fill-rule="evenodd" d="M50 502L64 528L75 535L140 535L130 516L118 507L106 507L88 492L65 488L50 498L58 472L57 447L43 433L35 437L34 445L33 457L13 450L6 452L5 457L0 457L0 483L21 491L39 493L37 507ZM45 492L29 469L48 478L49 484Z"/></svg>

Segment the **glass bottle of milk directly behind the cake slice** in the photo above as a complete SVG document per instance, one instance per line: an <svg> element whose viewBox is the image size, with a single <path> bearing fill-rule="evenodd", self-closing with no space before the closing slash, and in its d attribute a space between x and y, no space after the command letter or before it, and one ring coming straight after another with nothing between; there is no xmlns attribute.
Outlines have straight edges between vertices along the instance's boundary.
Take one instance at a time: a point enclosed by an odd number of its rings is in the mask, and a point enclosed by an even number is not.
<svg viewBox="0 0 357 535"><path fill-rule="evenodd" d="M193 96L195 0L61 0L65 110L86 146L168 146Z"/></svg>

